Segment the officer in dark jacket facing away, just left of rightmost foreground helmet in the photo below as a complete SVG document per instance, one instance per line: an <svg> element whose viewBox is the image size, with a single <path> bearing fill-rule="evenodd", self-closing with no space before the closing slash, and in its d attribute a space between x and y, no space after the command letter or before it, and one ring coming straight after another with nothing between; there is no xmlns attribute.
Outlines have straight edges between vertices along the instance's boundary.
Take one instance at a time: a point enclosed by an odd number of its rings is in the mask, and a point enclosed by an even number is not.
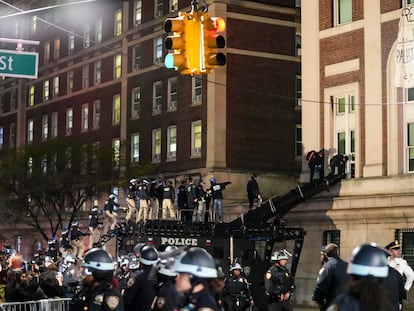
<svg viewBox="0 0 414 311"><path fill-rule="evenodd" d="M339 257L338 245L329 243L323 248L322 255L325 263L319 271L312 297L321 311L326 310L335 297L342 293L351 279L346 273L348 263Z"/></svg>

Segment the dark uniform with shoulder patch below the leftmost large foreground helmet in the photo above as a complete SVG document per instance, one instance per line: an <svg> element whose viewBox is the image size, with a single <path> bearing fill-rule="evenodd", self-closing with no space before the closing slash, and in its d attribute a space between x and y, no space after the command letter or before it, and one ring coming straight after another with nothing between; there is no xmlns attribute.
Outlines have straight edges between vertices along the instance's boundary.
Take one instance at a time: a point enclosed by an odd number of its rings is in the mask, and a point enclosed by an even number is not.
<svg viewBox="0 0 414 311"><path fill-rule="evenodd" d="M81 290L73 298L70 311L124 311L124 301L113 285L104 281L93 290Z"/></svg>

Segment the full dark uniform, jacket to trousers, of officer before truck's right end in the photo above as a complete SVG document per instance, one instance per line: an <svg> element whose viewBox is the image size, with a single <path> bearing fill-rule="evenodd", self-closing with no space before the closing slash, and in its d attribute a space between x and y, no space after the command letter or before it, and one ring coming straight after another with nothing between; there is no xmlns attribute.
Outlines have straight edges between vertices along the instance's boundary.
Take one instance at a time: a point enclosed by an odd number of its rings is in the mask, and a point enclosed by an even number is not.
<svg viewBox="0 0 414 311"><path fill-rule="evenodd" d="M290 297L282 301L284 294L291 294L295 289L293 276L286 267L271 266L265 275L265 288L269 296L269 311L292 310Z"/></svg>

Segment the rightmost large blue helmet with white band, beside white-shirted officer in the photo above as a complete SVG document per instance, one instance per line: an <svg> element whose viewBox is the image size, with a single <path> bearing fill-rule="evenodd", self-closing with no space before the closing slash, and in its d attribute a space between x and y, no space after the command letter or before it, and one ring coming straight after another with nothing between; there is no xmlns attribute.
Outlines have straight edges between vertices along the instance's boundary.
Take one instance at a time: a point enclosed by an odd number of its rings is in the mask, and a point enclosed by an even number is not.
<svg viewBox="0 0 414 311"><path fill-rule="evenodd" d="M354 248L347 273L361 277L386 278L388 261L385 251L373 244L362 244Z"/></svg>

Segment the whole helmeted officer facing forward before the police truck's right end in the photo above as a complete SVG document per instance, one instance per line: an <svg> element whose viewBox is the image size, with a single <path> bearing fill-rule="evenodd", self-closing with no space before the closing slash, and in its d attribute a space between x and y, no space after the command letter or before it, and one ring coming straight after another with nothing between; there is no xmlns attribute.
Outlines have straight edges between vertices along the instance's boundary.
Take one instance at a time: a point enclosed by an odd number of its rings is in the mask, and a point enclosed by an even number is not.
<svg viewBox="0 0 414 311"><path fill-rule="evenodd" d="M286 250L273 253L273 266L265 274L265 289L269 296L269 311L291 311L290 297L295 290L293 276L286 268L290 254Z"/></svg>

